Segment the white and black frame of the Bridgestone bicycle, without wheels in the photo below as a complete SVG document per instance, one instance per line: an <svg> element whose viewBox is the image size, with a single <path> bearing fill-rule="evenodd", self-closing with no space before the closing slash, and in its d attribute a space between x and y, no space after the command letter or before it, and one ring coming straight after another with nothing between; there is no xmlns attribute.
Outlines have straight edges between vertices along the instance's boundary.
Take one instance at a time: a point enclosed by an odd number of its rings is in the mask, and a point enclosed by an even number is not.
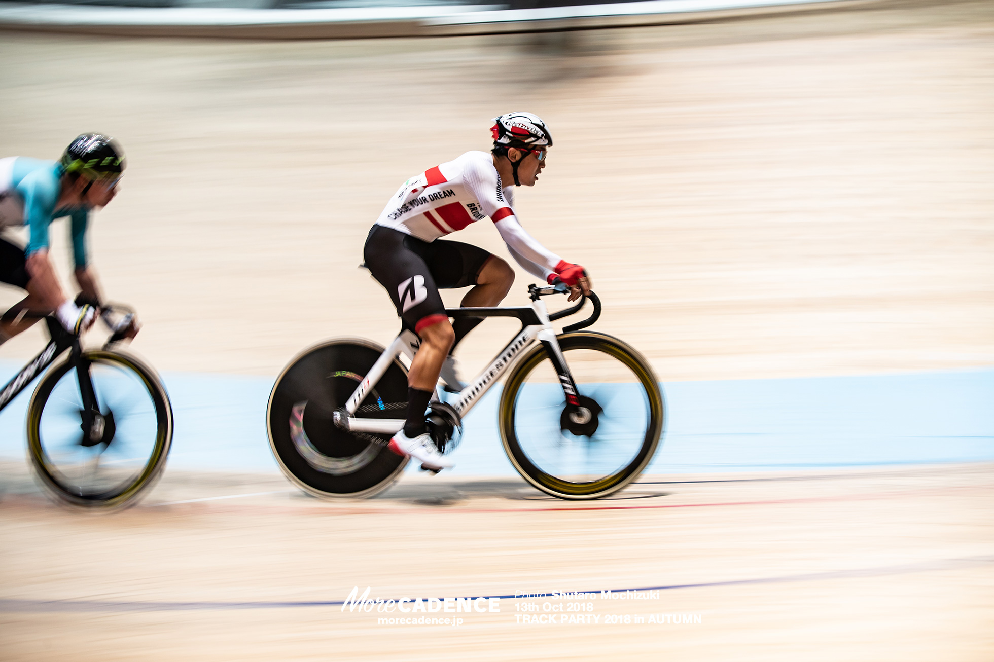
<svg viewBox="0 0 994 662"><path fill-rule="evenodd" d="M465 312L463 313L462 311ZM576 394L573 378L569 375L569 371L565 370L566 360L563 357L559 342L556 340L556 331L553 329L552 322L549 319L546 304L541 299L533 301L530 306L513 308L456 308L446 312L458 314L462 317L495 317L498 315L502 317L515 316L522 319L531 317L537 319L539 322L538 324L525 324L521 332L494 357L490 365L476 378L476 381L459 392L458 401L449 404L460 417L473 409L476 403L480 401L480 398L483 397L483 394L489 391L490 387L496 384L501 375L511 367L518 355L537 340L544 343L546 347L552 348L556 357L554 363L564 367L564 370L559 371L564 391L570 393L572 390ZM534 312L534 315L531 314L532 312ZM419 345L420 340L410 330L402 331L401 335L394 339L394 342L380 355L380 358L377 359L377 362L370 369L369 374L359 383L352 397L349 398L349 402L346 403L345 410L349 416L346 421L342 421L344 424L340 423L342 427L351 431L379 432L381 434L393 434L404 427L404 418L359 418L354 414L363 404L363 400L365 400L370 389L376 386L394 360L401 354L414 359ZM564 373L566 374L564 375ZM572 402L571 404L576 403Z"/></svg>

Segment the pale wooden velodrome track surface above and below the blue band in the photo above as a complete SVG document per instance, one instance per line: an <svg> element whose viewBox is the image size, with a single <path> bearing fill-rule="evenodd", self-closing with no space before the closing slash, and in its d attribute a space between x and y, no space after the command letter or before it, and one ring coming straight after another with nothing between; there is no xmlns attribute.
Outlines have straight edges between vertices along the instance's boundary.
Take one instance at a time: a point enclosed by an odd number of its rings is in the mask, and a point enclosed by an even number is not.
<svg viewBox="0 0 994 662"><path fill-rule="evenodd" d="M0 60L0 154L123 141L93 253L160 370L274 375L323 337L387 340L393 312L356 269L370 224L517 107L557 143L526 226L589 266L597 328L664 381L994 363L987 2L424 40L5 33ZM463 235L502 250L486 224ZM475 332L467 370L507 332ZM278 475L167 471L106 517L51 505L20 462L0 471L4 660L994 658L985 464L646 476L593 504L457 474L326 504ZM380 625L342 611L357 585L658 595L598 597L583 625L519 623L555 612L506 597L426 614L458 627ZM606 622L625 614L645 622Z"/></svg>

